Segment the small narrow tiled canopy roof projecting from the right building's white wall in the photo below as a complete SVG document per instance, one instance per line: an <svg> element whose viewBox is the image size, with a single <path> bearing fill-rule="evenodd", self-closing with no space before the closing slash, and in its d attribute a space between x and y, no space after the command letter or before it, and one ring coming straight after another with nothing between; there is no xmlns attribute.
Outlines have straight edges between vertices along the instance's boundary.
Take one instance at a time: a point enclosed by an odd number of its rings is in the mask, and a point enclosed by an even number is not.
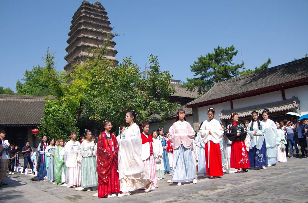
<svg viewBox="0 0 308 203"><path fill-rule="evenodd" d="M259 114L262 113L263 109L269 109L270 113L276 113L280 111L293 110L298 108L299 101L297 97L293 97L291 99L286 99L282 101L275 101L267 104L260 104L254 106L248 106L240 109L232 109L232 110L222 110L221 114L219 114L220 120L228 120L231 119L231 113L238 113L238 117L249 117L251 116L252 111L257 111Z"/></svg>

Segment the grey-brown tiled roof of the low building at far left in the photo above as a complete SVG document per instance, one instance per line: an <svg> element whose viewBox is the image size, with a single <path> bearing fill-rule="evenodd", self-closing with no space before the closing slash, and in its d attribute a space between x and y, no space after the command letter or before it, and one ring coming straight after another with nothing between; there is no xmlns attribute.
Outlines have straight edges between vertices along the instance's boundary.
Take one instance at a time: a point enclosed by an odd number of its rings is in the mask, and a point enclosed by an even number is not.
<svg viewBox="0 0 308 203"><path fill-rule="evenodd" d="M0 125L40 124L46 98L0 94Z"/></svg>

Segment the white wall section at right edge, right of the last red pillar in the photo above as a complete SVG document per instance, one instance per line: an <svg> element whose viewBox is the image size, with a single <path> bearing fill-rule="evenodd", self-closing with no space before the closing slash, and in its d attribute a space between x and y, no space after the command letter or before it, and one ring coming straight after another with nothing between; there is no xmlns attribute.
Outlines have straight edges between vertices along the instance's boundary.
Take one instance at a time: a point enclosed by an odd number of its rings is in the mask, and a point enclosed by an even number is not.
<svg viewBox="0 0 308 203"><path fill-rule="evenodd" d="M308 114L308 85L294 87L285 90L286 99L297 97L300 101L301 115Z"/></svg>

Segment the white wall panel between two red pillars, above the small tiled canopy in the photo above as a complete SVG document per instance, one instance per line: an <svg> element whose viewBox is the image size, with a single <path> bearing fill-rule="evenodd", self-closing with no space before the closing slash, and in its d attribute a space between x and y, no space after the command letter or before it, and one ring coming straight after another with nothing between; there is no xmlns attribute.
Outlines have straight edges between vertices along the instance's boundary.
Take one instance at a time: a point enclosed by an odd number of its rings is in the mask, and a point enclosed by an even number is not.
<svg viewBox="0 0 308 203"><path fill-rule="evenodd" d="M256 96L252 96L252 97L234 99L233 100L233 109L239 109L239 108L243 108L243 107L247 107L247 106L265 104L265 103L281 101L281 100L282 100L281 91L274 91L274 92L260 94L260 95L256 95Z"/></svg>

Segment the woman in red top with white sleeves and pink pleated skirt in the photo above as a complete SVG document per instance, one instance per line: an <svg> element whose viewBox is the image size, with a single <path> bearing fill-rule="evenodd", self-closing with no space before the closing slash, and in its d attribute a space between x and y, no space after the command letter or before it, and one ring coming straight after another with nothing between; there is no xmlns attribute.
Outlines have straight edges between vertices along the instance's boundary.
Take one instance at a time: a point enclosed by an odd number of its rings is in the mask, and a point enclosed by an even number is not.
<svg viewBox="0 0 308 203"><path fill-rule="evenodd" d="M143 122L141 125L141 140L142 140L142 154L141 159L143 161L144 170L148 172L150 179L153 180L151 190L158 187L157 184L157 174L156 174L156 164L154 157L154 142L152 136L148 134L150 130L150 125Z"/></svg>

